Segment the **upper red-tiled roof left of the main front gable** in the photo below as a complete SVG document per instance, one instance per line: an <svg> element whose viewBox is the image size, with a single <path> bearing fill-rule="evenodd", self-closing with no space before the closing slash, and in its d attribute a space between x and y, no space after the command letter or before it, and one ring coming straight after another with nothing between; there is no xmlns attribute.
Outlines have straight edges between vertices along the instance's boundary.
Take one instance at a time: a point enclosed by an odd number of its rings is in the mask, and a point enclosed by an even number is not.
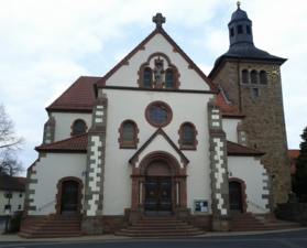
<svg viewBox="0 0 307 248"><path fill-rule="evenodd" d="M96 99L94 85L101 77L79 77L46 110L90 110Z"/></svg>

